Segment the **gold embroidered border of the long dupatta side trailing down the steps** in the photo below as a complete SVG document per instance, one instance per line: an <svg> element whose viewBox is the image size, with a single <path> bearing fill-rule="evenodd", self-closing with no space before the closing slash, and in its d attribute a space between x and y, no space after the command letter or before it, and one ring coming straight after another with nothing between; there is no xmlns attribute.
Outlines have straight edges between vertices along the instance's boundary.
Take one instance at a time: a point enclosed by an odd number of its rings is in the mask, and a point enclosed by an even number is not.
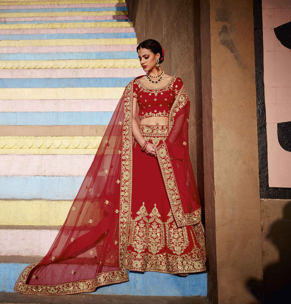
<svg viewBox="0 0 291 304"><path fill-rule="evenodd" d="M127 233L131 210L132 188L132 100L133 80L124 90L123 123L122 123L122 151L121 151L121 181L120 181L120 210L119 210L119 270L101 272L95 279L80 280L56 285L28 285L25 284L30 271L39 263L28 265L16 281L14 290L23 294L37 295L69 295L81 292L93 292L97 287L128 281L125 266Z"/></svg>

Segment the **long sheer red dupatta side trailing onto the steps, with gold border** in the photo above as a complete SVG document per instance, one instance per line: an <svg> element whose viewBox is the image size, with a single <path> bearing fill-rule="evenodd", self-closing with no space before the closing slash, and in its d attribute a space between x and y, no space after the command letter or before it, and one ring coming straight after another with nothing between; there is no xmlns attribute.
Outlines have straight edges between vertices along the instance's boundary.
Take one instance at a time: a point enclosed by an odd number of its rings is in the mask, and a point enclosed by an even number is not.
<svg viewBox="0 0 291 304"><path fill-rule="evenodd" d="M24 269L15 291L73 294L128 281L124 260L132 185L132 87L133 81L49 252Z"/></svg>

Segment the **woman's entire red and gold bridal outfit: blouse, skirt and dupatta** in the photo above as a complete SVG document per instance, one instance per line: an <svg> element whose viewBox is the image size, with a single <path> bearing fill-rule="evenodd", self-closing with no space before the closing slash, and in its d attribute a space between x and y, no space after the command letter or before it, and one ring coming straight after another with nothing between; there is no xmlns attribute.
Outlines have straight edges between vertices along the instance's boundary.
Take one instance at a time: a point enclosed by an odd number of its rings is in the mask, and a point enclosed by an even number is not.
<svg viewBox="0 0 291 304"><path fill-rule="evenodd" d="M138 77L140 78L140 77ZM190 102L183 82L162 88L131 81L114 111L89 171L47 255L27 266L15 291L65 295L128 281L131 271L205 271L201 207L188 151ZM157 157L140 150L136 120L167 116L169 124L139 124Z"/></svg>

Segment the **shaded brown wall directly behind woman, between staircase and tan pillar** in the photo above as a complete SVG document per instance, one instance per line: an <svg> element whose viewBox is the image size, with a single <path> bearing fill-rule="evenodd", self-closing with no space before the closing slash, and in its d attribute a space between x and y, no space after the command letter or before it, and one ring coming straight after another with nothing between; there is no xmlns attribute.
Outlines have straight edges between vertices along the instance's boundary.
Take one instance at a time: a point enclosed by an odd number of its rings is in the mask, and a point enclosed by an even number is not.
<svg viewBox="0 0 291 304"><path fill-rule="evenodd" d="M190 157L200 199L204 201L202 99L200 61L200 9L193 0L126 0L138 43L160 42L166 74L181 77L191 101Z"/></svg>

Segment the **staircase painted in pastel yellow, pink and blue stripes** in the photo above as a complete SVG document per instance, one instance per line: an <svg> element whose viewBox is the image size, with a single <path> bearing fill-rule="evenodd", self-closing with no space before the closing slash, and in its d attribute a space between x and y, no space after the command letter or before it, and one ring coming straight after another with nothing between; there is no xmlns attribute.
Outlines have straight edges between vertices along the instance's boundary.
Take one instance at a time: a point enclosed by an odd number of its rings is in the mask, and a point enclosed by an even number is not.
<svg viewBox="0 0 291 304"><path fill-rule="evenodd" d="M144 74L123 0L0 2L0 292L64 222L125 85ZM206 295L206 274L130 273L97 294Z"/></svg>

